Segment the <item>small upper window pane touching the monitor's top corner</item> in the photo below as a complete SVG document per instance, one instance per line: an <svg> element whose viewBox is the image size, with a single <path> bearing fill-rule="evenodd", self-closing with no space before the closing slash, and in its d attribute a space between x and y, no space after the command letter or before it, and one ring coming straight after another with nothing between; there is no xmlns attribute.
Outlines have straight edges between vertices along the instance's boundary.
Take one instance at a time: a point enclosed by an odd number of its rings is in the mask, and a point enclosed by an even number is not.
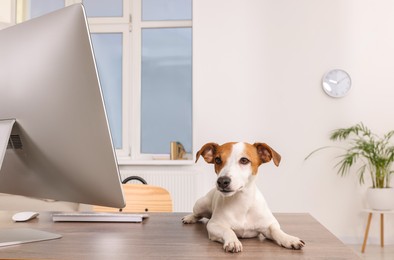
<svg viewBox="0 0 394 260"><path fill-rule="evenodd" d="M123 0L83 0L88 17L121 17Z"/></svg>

